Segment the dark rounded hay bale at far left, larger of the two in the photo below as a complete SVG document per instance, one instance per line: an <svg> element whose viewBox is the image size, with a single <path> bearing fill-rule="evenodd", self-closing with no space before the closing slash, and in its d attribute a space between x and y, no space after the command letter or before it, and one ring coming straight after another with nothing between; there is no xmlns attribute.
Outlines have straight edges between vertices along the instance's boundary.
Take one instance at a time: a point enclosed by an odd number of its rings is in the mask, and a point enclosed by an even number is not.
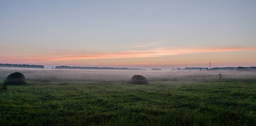
<svg viewBox="0 0 256 126"><path fill-rule="evenodd" d="M22 85L27 84L25 76L20 72L15 72L7 76L7 79L4 81L5 85Z"/></svg>

